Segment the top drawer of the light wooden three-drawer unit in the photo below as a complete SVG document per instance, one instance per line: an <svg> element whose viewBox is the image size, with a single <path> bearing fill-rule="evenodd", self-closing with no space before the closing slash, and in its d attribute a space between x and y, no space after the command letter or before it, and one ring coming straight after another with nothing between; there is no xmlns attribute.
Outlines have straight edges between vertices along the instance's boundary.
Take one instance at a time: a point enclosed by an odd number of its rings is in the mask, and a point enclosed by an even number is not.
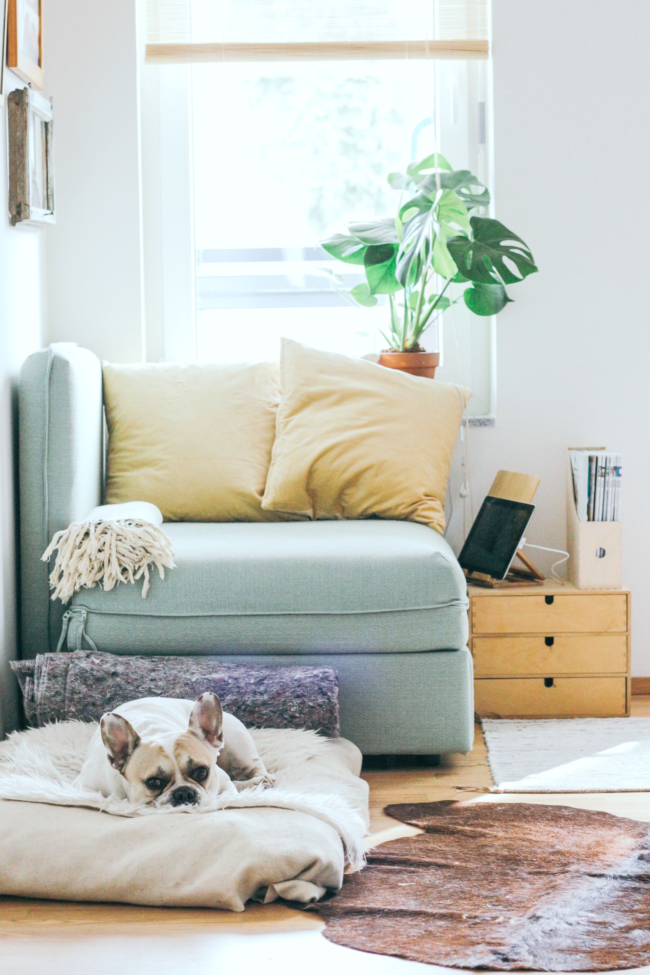
<svg viewBox="0 0 650 975"><path fill-rule="evenodd" d="M549 602L547 602L547 600ZM625 633L625 593L474 596L473 633Z"/></svg>

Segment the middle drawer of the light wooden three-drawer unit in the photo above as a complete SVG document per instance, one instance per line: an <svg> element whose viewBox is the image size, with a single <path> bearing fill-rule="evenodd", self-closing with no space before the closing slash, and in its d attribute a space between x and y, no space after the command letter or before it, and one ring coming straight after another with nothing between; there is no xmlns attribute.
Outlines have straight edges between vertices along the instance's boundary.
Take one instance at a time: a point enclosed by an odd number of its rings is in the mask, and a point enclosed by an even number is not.
<svg viewBox="0 0 650 975"><path fill-rule="evenodd" d="M472 654L476 677L628 673L628 638L625 634L474 637Z"/></svg>

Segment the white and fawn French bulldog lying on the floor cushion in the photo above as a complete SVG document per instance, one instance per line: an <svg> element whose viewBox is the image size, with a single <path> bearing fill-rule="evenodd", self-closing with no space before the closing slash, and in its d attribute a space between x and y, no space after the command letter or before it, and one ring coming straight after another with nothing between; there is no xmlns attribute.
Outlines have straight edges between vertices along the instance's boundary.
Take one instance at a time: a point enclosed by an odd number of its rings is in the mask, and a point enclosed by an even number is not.
<svg viewBox="0 0 650 975"><path fill-rule="evenodd" d="M273 779L249 730L208 692L197 701L143 697L102 715L75 782L162 808L200 806Z"/></svg>

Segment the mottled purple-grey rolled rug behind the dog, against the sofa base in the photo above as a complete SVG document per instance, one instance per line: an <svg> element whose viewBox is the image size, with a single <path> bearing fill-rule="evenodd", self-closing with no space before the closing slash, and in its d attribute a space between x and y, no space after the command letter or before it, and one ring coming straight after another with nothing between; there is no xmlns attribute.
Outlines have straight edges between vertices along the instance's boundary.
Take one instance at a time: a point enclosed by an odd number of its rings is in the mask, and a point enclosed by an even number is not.
<svg viewBox="0 0 650 975"><path fill-rule="evenodd" d="M138 697L196 700L210 690L248 727L339 735L338 675L331 667L224 663L220 657L132 657L78 650L12 662L34 727L101 715Z"/></svg>

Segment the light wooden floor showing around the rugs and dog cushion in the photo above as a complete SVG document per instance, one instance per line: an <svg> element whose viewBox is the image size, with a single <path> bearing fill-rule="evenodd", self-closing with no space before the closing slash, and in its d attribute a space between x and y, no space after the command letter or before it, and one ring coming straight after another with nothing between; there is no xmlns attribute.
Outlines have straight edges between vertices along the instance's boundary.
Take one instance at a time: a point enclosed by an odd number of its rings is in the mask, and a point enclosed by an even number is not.
<svg viewBox="0 0 650 975"><path fill-rule="evenodd" d="M632 715L650 717L650 696L632 700ZM650 822L650 793L493 796L485 745L477 726L469 756L439 768L367 772L372 836L369 845L417 833L383 813L389 802L464 799L526 801L602 809ZM1 838L0 838L1 841ZM240 915L210 910L136 908L0 898L2 975L415 975L429 965L364 955L331 945L318 917L282 904L255 905ZM442 972L443 969L438 969Z"/></svg>

